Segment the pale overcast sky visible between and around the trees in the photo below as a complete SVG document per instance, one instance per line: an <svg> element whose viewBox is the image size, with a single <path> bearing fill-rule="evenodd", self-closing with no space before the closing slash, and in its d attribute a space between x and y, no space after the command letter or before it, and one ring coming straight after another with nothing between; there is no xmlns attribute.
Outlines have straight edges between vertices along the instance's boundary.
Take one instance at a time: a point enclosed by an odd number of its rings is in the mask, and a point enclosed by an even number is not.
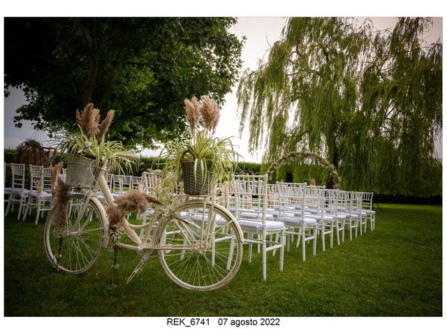
<svg viewBox="0 0 447 335"><path fill-rule="evenodd" d="M359 17L363 20L365 17ZM396 19L394 17L372 17L374 27L377 29L391 28L395 25ZM230 32L242 38L246 36L247 40L242 50L242 70L245 68L255 69L258 61L263 57L267 57L266 50L270 48L275 41L279 40L281 30L286 23L285 17L239 17L237 24L230 29ZM442 40L442 20L440 17L434 18L434 25L427 36L427 42L432 43L438 38ZM239 137L240 121L237 117L237 103L235 98L236 87L233 91L226 95L226 104L221 110L221 120L217 126L217 136L227 137L233 136L233 142L239 147L238 151L244 157L245 161L261 161L262 151L251 155L248 153L248 136L249 130L246 130ZM22 128L15 128L13 126L13 117L15 110L20 107L24 101L24 96L20 90L11 89L10 97L6 98L5 115L4 115L4 147L17 147L17 144L27 140L29 137L34 137L37 140L45 140L45 135L42 132L35 132L31 124L24 121ZM189 97L190 98L190 97ZM437 152L442 157L442 144L438 141L436 144ZM143 151L145 156L154 156L154 151Z"/></svg>

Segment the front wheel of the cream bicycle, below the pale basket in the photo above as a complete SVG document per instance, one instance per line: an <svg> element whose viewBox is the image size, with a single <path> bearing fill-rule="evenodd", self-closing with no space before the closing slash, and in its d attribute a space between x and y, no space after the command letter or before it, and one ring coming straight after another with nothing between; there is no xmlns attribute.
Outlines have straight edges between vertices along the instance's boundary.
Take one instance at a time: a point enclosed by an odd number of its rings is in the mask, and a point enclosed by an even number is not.
<svg viewBox="0 0 447 335"><path fill-rule="evenodd" d="M101 255L103 215L94 200L86 202L80 194L69 195L65 220L58 211L58 205L54 206L45 223L47 258L58 271L82 274Z"/></svg>

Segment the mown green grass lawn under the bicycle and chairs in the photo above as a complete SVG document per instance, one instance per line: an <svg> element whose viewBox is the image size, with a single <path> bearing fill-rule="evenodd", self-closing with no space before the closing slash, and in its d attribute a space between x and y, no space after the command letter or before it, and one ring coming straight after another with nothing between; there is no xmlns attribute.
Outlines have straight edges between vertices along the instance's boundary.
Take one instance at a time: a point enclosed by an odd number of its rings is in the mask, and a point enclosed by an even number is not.
<svg viewBox="0 0 447 335"><path fill-rule="evenodd" d="M261 255L247 262L218 291L195 292L175 285L152 258L125 285L138 263L119 253L118 285L112 285L112 253L80 276L59 274L47 261L43 224L13 214L4 226L4 313L8 315L309 316L442 315L442 208L381 205L376 230L321 251L291 247L280 273L278 254L268 255L267 281ZM346 236L349 236L347 234Z"/></svg>

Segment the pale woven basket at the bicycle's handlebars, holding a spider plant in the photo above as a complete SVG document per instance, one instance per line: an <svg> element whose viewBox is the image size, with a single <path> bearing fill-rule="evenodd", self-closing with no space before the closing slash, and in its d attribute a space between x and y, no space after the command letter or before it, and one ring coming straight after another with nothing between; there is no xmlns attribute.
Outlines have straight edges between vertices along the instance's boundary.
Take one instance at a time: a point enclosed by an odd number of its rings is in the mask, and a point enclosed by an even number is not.
<svg viewBox="0 0 447 335"><path fill-rule="evenodd" d="M91 188L98 173L94 159L74 156L67 163L65 184L75 188Z"/></svg>

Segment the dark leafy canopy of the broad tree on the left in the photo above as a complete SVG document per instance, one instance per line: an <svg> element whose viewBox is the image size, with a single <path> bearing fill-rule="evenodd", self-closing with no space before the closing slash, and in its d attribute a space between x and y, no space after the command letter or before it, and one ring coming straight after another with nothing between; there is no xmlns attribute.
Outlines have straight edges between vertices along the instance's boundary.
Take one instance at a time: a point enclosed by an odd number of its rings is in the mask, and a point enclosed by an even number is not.
<svg viewBox="0 0 447 335"><path fill-rule="evenodd" d="M114 109L114 140L150 147L184 130L183 100L219 104L235 83L242 42L231 17L5 18L5 94L23 89L15 121L50 132L75 110ZM101 115L104 117L104 115Z"/></svg>

